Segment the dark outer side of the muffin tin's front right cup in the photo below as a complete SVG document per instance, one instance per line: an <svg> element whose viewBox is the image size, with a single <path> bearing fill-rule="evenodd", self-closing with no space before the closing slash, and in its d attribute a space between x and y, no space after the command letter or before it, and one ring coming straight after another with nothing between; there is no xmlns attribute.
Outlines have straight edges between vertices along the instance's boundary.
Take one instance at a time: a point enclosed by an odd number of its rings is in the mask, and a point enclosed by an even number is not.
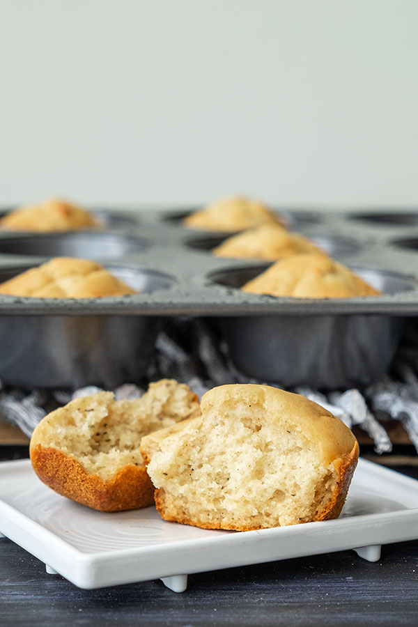
<svg viewBox="0 0 418 627"><path fill-rule="evenodd" d="M344 389L376 382L392 360L403 318L251 316L224 318L235 367L261 382Z"/></svg>

